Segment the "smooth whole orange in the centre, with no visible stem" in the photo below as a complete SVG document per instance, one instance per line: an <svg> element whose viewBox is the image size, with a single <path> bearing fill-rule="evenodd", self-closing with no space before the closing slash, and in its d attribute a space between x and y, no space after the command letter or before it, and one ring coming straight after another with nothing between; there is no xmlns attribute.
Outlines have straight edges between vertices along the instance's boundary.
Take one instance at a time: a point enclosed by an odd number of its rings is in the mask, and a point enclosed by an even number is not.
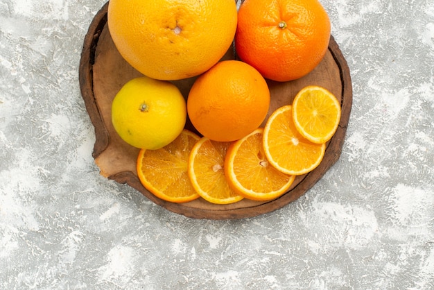
<svg viewBox="0 0 434 290"><path fill-rule="evenodd" d="M252 66L225 60L202 74L191 87L187 112L198 132L229 142L252 133L266 118L270 90Z"/></svg>

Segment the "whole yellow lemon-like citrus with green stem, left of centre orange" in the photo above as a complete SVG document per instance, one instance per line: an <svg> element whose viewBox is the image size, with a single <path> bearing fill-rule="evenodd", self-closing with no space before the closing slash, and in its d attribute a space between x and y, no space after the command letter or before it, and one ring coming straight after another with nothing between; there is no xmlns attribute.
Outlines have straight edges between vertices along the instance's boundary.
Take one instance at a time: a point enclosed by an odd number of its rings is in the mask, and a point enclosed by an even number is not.
<svg viewBox="0 0 434 290"><path fill-rule="evenodd" d="M172 83L146 76L128 81L112 102L112 123L119 136L137 148L158 149L184 129L186 102Z"/></svg>

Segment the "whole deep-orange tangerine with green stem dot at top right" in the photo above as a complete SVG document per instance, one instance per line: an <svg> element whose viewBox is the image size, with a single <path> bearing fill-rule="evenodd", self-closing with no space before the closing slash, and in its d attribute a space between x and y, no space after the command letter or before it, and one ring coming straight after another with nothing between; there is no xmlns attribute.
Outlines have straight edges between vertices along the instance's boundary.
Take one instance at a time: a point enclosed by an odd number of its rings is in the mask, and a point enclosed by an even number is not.
<svg viewBox="0 0 434 290"><path fill-rule="evenodd" d="M295 80L320 63L330 30L318 0L245 0L238 12L236 52L265 78Z"/></svg>

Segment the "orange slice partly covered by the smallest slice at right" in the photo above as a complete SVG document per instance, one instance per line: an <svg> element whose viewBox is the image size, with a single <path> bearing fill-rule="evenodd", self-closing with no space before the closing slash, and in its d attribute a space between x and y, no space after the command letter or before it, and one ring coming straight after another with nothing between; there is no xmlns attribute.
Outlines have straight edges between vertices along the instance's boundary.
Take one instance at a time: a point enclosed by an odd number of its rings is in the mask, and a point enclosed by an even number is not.
<svg viewBox="0 0 434 290"><path fill-rule="evenodd" d="M318 167L325 144L304 138L295 128L291 105L273 112L263 129L263 148L270 164L279 171L302 175Z"/></svg>

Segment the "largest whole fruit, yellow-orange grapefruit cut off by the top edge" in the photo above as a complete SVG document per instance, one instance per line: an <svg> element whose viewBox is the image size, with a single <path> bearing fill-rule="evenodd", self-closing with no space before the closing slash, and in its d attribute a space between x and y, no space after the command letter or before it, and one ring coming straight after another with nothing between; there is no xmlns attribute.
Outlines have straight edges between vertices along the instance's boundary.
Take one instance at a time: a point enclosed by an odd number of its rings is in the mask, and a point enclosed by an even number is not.
<svg viewBox="0 0 434 290"><path fill-rule="evenodd" d="M232 45L237 19L234 0L110 0L107 17L121 56L160 80L216 64Z"/></svg>

